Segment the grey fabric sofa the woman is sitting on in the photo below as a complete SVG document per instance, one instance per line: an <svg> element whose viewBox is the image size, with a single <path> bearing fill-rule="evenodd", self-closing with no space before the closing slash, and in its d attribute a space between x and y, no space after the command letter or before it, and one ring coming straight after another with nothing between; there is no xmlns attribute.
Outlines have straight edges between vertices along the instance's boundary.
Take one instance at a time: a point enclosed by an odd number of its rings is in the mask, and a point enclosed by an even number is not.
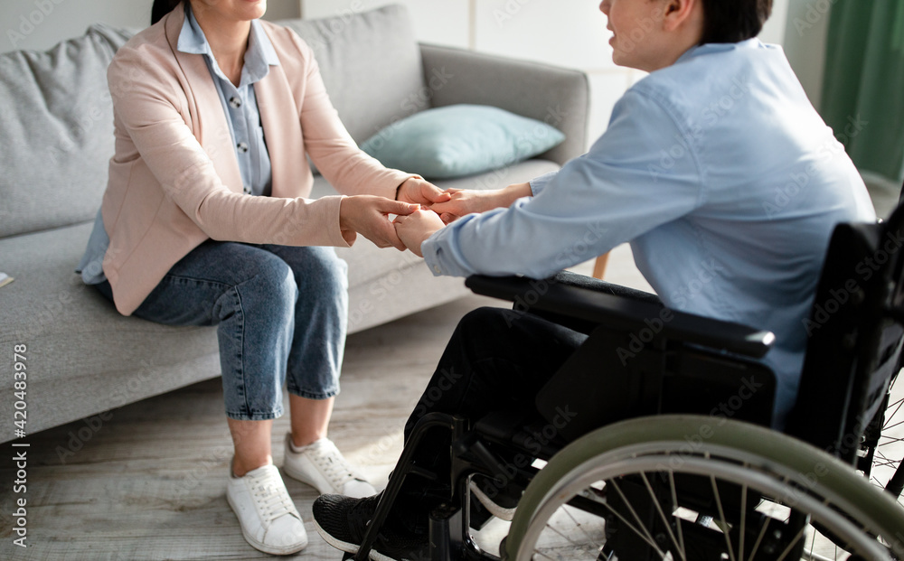
<svg viewBox="0 0 904 561"><path fill-rule="evenodd" d="M546 119L567 136L537 159L442 188L523 182L583 152L589 98L578 71L421 45L400 6L281 23L315 49L359 143L401 117L456 103ZM0 55L0 271L15 278L0 287L0 442L15 438L15 345L26 348L27 434L220 373L213 328L123 317L74 273L113 154L106 68L131 35L96 25L51 51ZM315 196L328 192L318 177ZM349 264L352 332L465 294L461 279L431 276L409 252L359 238L338 253Z"/></svg>

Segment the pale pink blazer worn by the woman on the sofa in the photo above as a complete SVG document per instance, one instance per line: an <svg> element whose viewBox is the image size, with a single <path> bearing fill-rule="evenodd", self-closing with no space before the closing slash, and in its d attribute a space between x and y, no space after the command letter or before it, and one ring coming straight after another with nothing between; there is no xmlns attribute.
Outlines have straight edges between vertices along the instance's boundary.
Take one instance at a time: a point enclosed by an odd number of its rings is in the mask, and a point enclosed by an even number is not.
<svg viewBox="0 0 904 561"><path fill-rule="evenodd" d="M364 154L327 97L314 53L297 34L264 30L279 57L255 85L273 168L272 196L245 195L229 126L201 54L176 50L184 9L138 33L108 69L116 154L101 206L110 245L104 274L129 315L203 241L347 247L342 196L315 201L309 154L337 191L394 198L409 173Z"/></svg>

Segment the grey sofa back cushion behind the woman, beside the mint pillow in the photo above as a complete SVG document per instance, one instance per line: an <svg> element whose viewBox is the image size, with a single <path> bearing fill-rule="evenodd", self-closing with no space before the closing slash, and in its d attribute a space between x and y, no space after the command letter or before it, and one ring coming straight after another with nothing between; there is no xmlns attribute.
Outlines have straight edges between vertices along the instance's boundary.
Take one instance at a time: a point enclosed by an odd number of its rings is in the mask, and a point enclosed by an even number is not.
<svg viewBox="0 0 904 561"><path fill-rule="evenodd" d="M330 99L355 142L429 107L420 48L404 6L278 23L314 50Z"/></svg>

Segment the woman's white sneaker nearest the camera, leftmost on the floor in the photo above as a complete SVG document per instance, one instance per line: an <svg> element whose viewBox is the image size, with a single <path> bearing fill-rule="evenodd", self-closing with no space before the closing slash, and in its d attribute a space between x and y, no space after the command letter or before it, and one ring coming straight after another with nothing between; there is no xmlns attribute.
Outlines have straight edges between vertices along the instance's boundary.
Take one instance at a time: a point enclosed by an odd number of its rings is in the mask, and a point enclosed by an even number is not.
<svg viewBox="0 0 904 561"><path fill-rule="evenodd" d="M252 547L288 555L307 545L305 524L275 465L259 467L243 477L233 475L230 467L226 500L239 517L241 535Z"/></svg>

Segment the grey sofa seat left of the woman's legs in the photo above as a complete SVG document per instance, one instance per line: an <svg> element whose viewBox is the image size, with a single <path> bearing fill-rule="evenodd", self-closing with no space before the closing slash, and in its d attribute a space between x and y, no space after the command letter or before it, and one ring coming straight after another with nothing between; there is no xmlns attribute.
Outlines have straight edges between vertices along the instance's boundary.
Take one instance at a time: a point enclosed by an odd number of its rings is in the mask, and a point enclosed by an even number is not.
<svg viewBox="0 0 904 561"><path fill-rule="evenodd" d="M215 329L124 317L82 284L72 269L90 231L88 222L0 239L15 278L0 288L0 345L27 348L29 433L220 372Z"/></svg>

